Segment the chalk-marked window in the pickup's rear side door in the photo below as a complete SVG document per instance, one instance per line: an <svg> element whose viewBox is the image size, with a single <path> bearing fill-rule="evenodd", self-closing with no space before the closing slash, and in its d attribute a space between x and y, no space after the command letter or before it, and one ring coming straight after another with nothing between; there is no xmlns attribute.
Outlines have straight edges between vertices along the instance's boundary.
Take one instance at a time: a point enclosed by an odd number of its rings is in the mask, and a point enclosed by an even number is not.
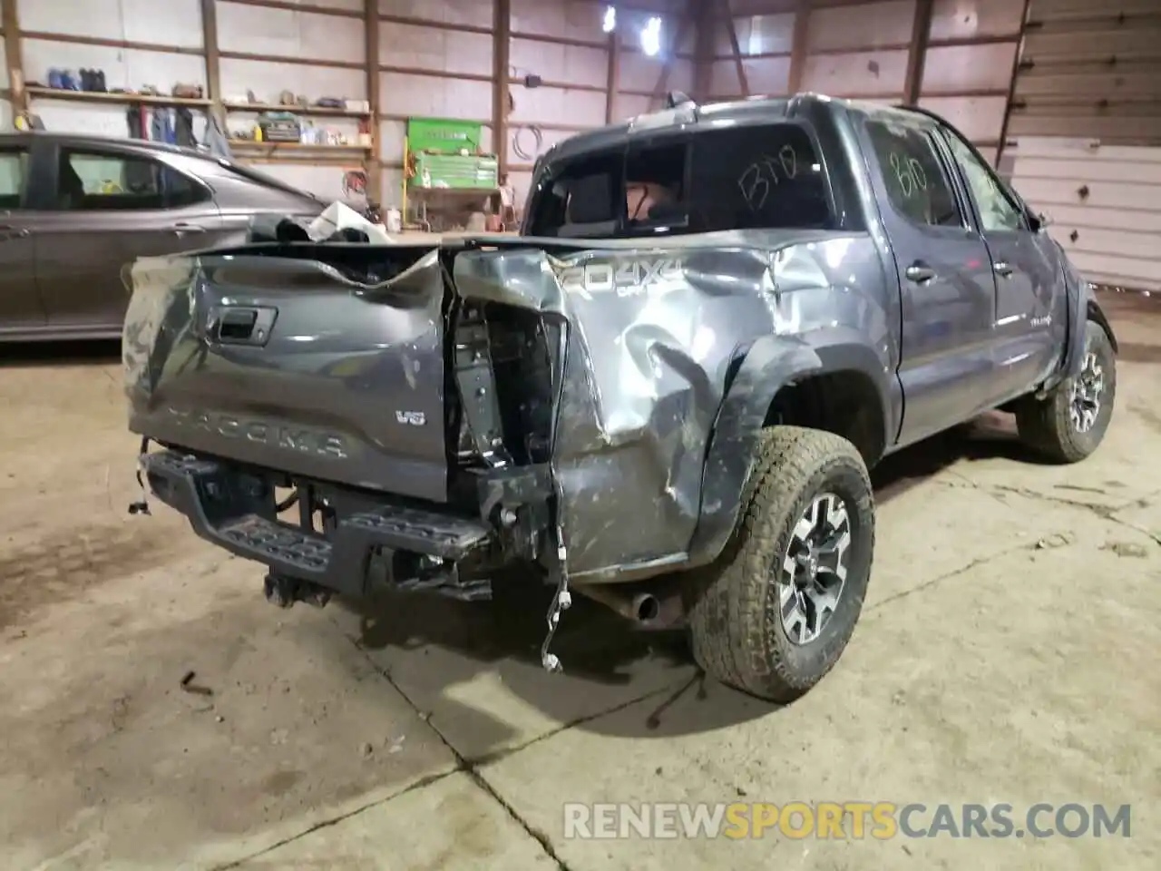
<svg viewBox="0 0 1161 871"><path fill-rule="evenodd" d="M894 120L873 117L867 132L890 204L913 223L962 226L964 217L930 134Z"/></svg>

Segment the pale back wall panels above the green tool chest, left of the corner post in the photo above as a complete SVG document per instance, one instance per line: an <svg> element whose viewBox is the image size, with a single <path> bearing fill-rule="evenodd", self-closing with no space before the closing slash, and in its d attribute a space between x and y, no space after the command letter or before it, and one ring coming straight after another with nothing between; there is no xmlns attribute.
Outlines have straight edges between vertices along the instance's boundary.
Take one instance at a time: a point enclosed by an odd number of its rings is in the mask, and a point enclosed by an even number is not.
<svg viewBox="0 0 1161 871"><path fill-rule="evenodd" d="M251 0L257 1L257 0ZM264 0L265 1L265 0ZM509 0L507 94L511 114L493 142L492 81L497 0L378 0L380 136L383 202L397 204L403 135L412 115L485 125L485 147L503 158L524 199L535 159L561 139L661 107L668 89L693 87L690 0L616 3L616 33L603 28L601 0ZM662 21L662 50L648 57L635 37ZM504 63L504 62L500 62ZM540 78L527 87L525 77Z"/></svg>

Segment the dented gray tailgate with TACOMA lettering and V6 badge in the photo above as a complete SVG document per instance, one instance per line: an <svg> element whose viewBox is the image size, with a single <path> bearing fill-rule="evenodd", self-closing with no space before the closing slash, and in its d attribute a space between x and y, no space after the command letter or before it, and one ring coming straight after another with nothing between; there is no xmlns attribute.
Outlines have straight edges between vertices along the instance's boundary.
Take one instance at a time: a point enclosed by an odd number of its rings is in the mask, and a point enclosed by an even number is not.
<svg viewBox="0 0 1161 871"><path fill-rule="evenodd" d="M447 499L445 271L430 247L255 245L134 266L130 429L172 446ZM352 262L346 269L344 250Z"/></svg>

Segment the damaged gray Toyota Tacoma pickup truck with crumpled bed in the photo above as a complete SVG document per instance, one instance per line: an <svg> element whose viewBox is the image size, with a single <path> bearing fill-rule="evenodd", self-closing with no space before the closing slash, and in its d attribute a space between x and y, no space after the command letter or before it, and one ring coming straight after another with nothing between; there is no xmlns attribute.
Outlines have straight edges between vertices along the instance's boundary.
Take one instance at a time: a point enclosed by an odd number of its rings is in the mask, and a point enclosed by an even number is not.
<svg viewBox="0 0 1161 871"><path fill-rule="evenodd" d="M1083 459L1116 340L940 118L671 103L547 152L521 236L138 260L143 487L283 606L532 568L546 668L579 593L687 627L735 688L806 692L866 596L867 468L989 409Z"/></svg>

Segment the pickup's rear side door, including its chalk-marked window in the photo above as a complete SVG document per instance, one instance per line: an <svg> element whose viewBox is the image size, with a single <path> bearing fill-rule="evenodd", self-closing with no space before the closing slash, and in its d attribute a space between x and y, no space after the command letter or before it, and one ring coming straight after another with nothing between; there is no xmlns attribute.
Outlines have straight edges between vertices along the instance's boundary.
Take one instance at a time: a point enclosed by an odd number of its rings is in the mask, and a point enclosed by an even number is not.
<svg viewBox="0 0 1161 871"><path fill-rule="evenodd" d="M903 445L986 408L996 282L933 122L877 110L860 138L899 274Z"/></svg>

